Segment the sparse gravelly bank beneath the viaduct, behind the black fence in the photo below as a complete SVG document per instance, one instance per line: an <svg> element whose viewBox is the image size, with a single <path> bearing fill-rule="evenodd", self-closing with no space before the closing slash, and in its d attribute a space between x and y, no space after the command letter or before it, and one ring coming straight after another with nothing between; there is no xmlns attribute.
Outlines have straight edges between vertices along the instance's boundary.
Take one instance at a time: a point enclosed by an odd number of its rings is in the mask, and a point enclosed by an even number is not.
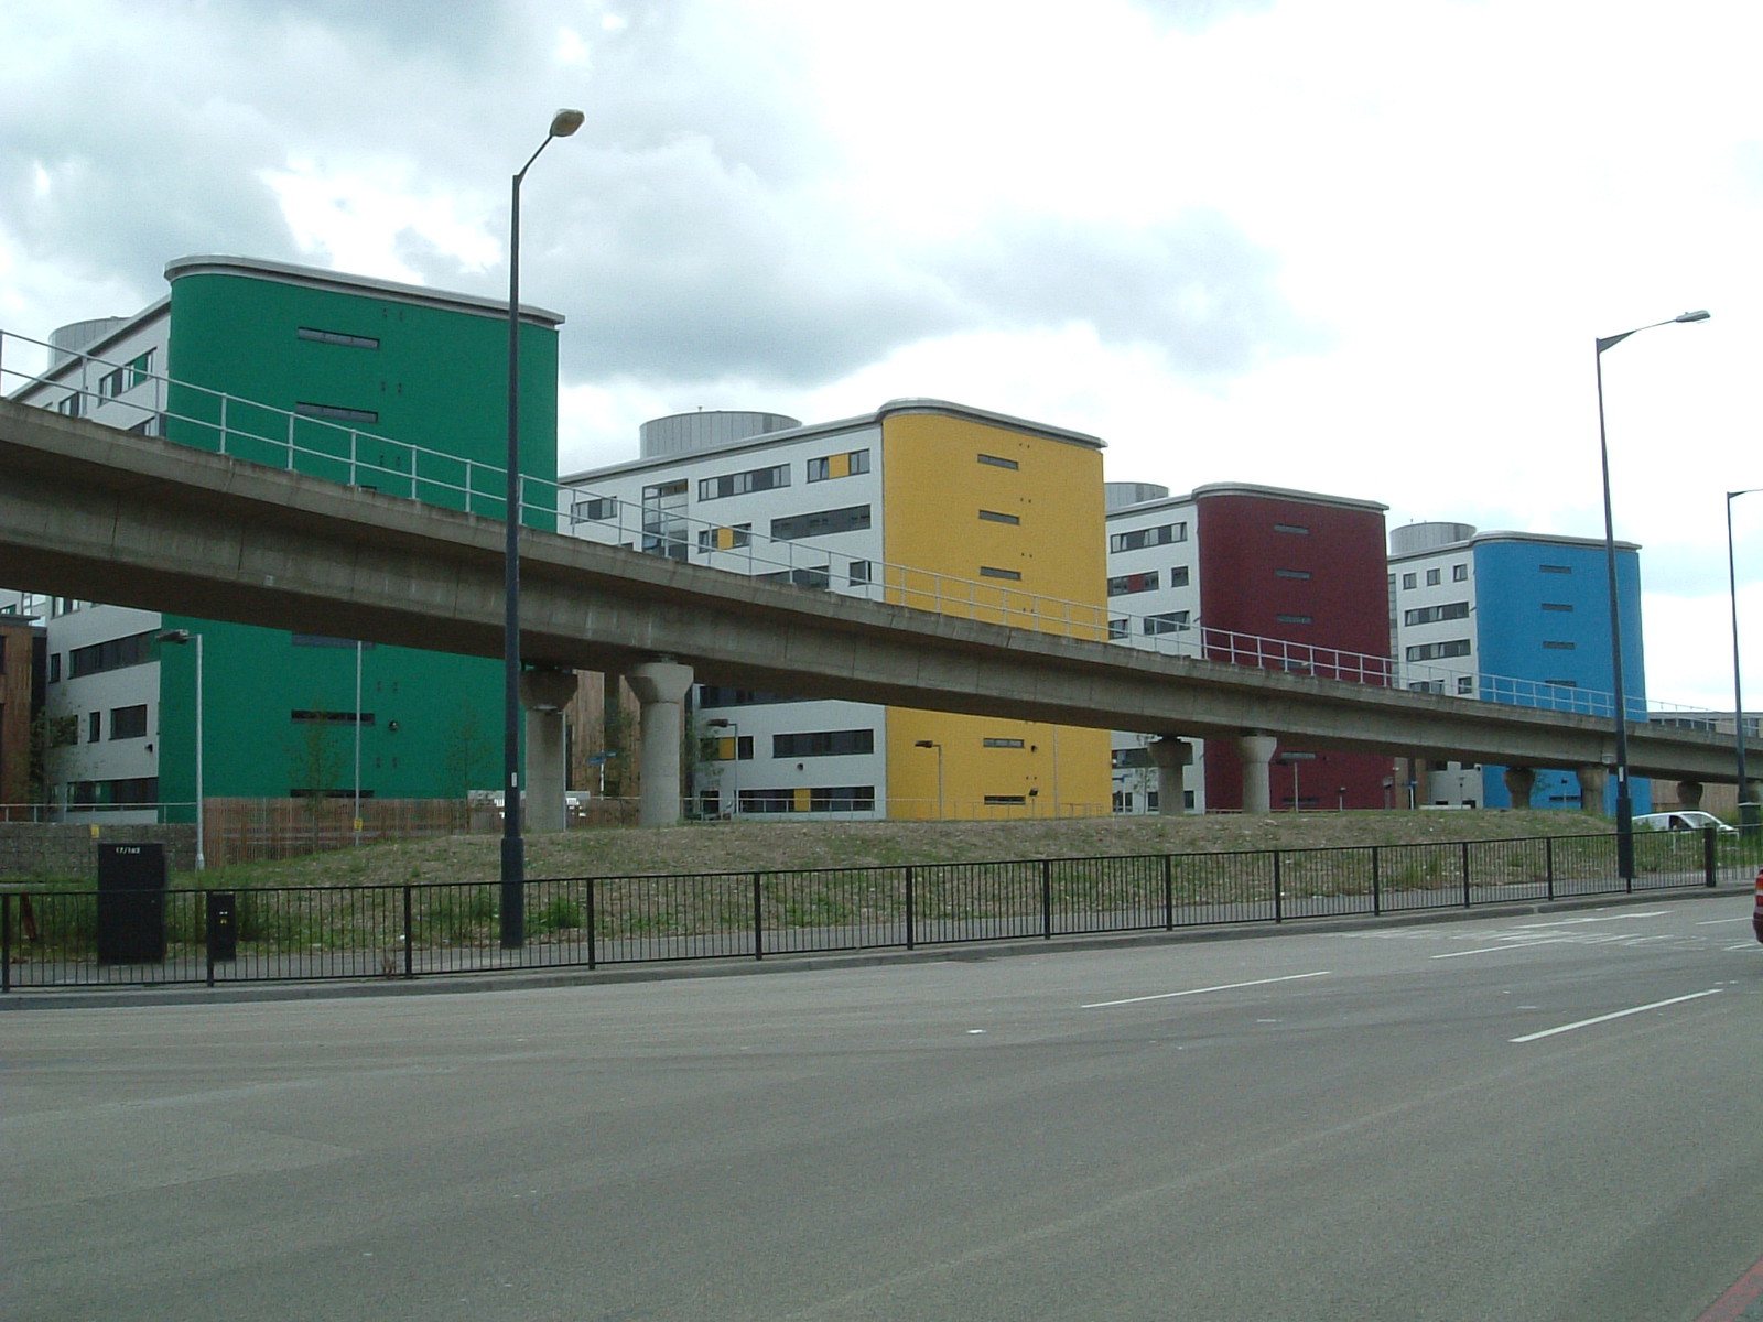
<svg viewBox="0 0 1763 1322"><path fill-rule="evenodd" d="M527 876L628 876L910 862L1315 850L1470 839L1588 836L1581 813L1282 813L1273 816L1079 818L1065 821L712 821L665 828L573 830L527 837ZM497 836L397 841L277 864L215 867L206 887L372 885L494 880ZM180 885L180 881L173 881ZM183 880L182 885L189 885Z"/></svg>

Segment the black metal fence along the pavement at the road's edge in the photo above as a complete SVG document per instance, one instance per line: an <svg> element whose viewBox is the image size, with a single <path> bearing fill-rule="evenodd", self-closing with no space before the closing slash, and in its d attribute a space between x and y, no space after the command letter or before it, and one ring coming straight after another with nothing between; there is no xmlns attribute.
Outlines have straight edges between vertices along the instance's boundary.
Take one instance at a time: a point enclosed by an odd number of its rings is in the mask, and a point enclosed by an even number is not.
<svg viewBox="0 0 1763 1322"><path fill-rule="evenodd" d="M770 869L527 881L525 943L502 948L497 881L166 890L129 915L97 892L0 894L0 991L418 978L765 959L1097 932L1474 908L1749 880L1714 832L1368 844L1116 858ZM145 917L143 917L145 915ZM122 920L141 941L106 941ZM136 934L139 936L139 932ZM150 961L118 955L148 948Z"/></svg>

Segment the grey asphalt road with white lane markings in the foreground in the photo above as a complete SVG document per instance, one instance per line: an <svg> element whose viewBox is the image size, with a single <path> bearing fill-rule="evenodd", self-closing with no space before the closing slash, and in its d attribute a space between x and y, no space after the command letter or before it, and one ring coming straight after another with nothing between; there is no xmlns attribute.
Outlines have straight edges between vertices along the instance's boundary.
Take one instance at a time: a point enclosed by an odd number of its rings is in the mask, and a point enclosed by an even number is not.
<svg viewBox="0 0 1763 1322"><path fill-rule="evenodd" d="M19 1010L0 1311L1696 1322L1763 1259L1749 908Z"/></svg>

